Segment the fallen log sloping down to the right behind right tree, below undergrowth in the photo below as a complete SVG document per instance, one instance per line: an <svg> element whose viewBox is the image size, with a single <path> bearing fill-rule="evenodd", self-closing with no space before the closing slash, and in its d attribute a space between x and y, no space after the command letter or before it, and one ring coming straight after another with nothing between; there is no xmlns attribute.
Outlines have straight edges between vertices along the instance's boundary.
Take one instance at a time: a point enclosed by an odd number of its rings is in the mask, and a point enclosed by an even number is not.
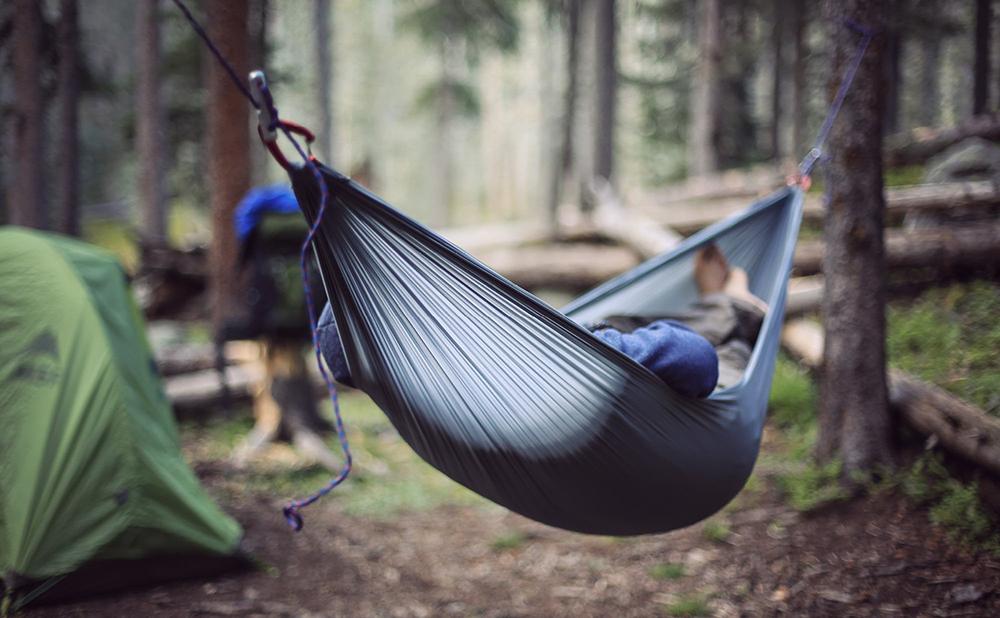
<svg viewBox="0 0 1000 618"><path fill-rule="evenodd" d="M810 369L821 371L823 330L793 320L781 332L782 346ZM1000 475L1000 422L948 391L894 367L887 370L889 401L901 417L948 451Z"/></svg>

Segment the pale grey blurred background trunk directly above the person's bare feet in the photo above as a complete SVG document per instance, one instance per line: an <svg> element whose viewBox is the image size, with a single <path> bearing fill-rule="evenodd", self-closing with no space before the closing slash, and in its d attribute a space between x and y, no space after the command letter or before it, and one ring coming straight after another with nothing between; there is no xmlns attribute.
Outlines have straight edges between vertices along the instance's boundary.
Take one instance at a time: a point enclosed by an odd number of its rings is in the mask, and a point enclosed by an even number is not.
<svg viewBox="0 0 1000 618"><path fill-rule="evenodd" d="M691 101L688 139L688 175L701 176L719 169L719 105L722 95L721 0L699 3L698 67Z"/></svg>

